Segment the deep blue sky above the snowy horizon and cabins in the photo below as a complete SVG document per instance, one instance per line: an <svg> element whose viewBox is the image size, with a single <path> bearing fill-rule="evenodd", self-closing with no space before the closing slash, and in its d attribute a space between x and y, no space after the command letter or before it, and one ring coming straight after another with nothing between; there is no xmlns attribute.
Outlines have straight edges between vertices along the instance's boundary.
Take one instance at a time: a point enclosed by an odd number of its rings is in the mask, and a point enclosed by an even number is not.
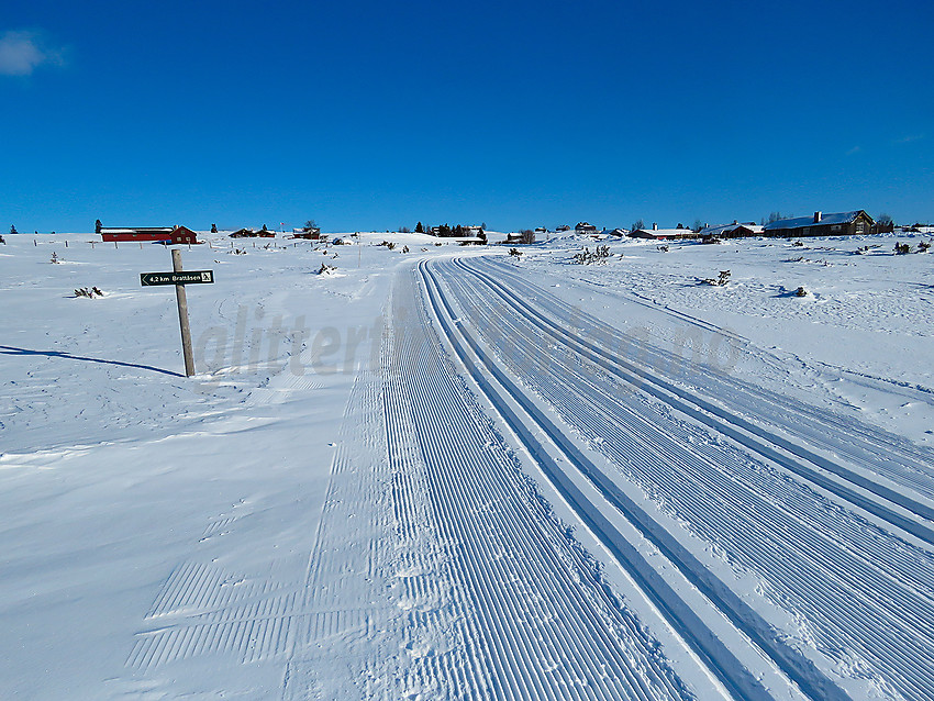
<svg viewBox="0 0 934 701"><path fill-rule="evenodd" d="M0 216L931 221L932 85L924 0L4 2Z"/></svg>

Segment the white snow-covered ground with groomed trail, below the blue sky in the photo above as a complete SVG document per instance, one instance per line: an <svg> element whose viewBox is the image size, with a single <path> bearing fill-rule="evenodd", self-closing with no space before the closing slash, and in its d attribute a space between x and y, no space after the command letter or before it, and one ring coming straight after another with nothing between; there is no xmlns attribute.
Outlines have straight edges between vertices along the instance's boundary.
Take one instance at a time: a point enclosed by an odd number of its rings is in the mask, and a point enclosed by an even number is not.
<svg viewBox="0 0 934 701"><path fill-rule="evenodd" d="M0 245L0 698L934 698L930 237L204 237Z"/></svg>

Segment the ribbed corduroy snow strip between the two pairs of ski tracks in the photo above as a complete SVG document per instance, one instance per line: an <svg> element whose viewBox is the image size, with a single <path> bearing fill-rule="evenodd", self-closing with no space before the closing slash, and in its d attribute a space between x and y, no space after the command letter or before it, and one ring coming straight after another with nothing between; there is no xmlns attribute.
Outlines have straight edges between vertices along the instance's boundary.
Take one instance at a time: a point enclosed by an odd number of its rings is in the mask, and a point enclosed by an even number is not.
<svg viewBox="0 0 934 701"><path fill-rule="evenodd" d="M447 272L447 286L476 327L508 327L510 353L503 361L585 437L602 439L596 445L624 478L657 494L732 561L757 572L778 600L804 617L820 645L856 650L905 698L934 696L934 563L929 553L823 502L772 468L698 441L677 422L647 418L645 403L621 392L605 374L594 374L597 366L585 365L581 371L579 345L560 333L549 338L576 363L563 368L560 382L546 372L529 377L529 368L541 364L535 354L542 350L542 322L554 322L515 302L488 276L466 275L463 264L438 268ZM507 305L490 304L490 291ZM535 291L540 300L545 294Z"/></svg>

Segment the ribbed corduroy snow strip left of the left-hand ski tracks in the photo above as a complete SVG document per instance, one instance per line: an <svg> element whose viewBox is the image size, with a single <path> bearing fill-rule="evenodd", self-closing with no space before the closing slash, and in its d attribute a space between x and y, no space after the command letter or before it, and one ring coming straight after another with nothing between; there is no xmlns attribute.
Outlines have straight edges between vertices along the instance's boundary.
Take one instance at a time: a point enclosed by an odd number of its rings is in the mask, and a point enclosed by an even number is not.
<svg viewBox="0 0 934 701"><path fill-rule="evenodd" d="M398 305L423 309L414 285L409 271ZM489 683L493 698L515 700L689 698L471 403L427 318L396 333L388 430L414 430L435 523L456 544L452 567L479 639L467 689L479 696Z"/></svg>

